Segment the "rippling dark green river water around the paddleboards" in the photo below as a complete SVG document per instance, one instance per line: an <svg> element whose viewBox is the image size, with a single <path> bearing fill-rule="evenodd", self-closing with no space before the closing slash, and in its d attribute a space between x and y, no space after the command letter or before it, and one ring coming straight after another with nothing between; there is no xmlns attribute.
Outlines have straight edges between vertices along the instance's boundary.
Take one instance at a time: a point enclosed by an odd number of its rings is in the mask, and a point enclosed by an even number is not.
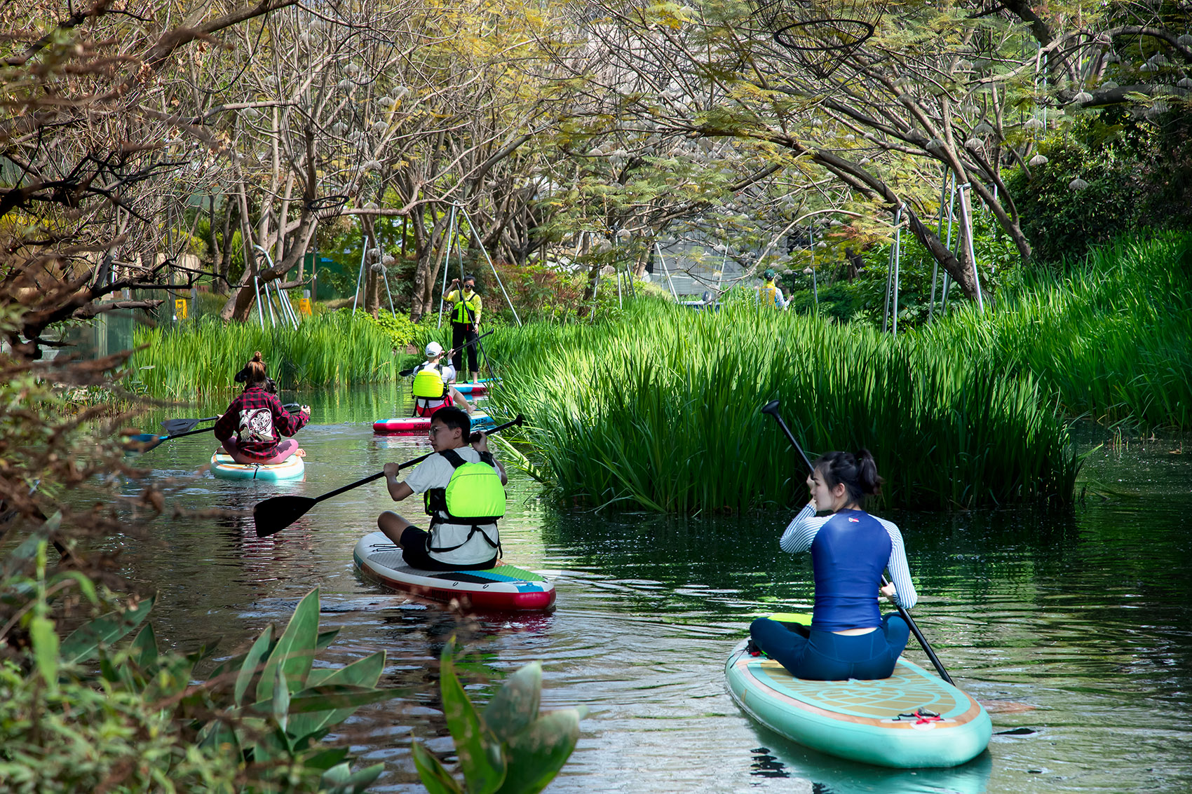
<svg viewBox="0 0 1192 794"><path fill-rule="evenodd" d="M393 504L379 483L256 539L247 515L255 502L316 496L429 451L417 438L373 436L372 420L393 415L393 387L309 397L316 424L298 435L309 453L300 483L195 476L213 448L209 436L147 453L141 463L173 478L178 504L246 514L161 519L159 542L125 548L128 572L161 593L159 637L184 649L223 637L230 652L266 624L284 624L318 587L323 627L341 629L325 663L386 651L383 683L411 694L361 709L337 737L365 761L385 762L375 790L422 790L411 738L449 753L436 669L453 634L476 697L491 693L485 682L540 659L546 707L591 709L551 792L1192 789L1192 443L1185 453L1179 438L1132 439L1093 452L1087 497L1069 515L887 515L906 538L917 620L956 683L994 706L998 732L960 769L896 771L802 750L726 694L724 663L749 621L809 606L808 560L777 545L787 513L565 514L511 472L505 557L558 588L555 612L520 618L458 615L362 581L353 545ZM1082 433L1086 448L1107 438ZM414 500L403 507L417 510ZM927 666L917 647L907 653Z"/></svg>

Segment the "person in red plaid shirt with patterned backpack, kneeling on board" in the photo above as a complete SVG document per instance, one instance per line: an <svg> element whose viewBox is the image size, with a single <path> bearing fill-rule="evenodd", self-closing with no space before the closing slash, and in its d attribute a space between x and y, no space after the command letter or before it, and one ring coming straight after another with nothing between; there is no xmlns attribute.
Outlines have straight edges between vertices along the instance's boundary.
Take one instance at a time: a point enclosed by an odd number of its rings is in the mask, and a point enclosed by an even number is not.
<svg viewBox="0 0 1192 794"><path fill-rule="evenodd" d="M288 414L277 395L265 390L268 374L257 351L243 370L244 391L231 401L228 411L216 422L215 434L232 460L242 464L275 464L290 455L305 457L291 436L310 421L310 405Z"/></svg>

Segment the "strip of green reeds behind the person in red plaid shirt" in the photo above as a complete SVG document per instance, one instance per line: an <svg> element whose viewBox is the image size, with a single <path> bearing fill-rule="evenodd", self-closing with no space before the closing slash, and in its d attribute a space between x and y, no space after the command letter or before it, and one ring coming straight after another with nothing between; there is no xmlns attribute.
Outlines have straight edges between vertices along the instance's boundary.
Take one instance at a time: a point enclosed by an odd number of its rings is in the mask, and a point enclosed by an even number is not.
<svg viewBox="0 0 1192 794"><path fill-rule="evenodd" d="M240 389L232 378L254 351L281 389L384 383L396 378L389 334L372 318L335 311L303 320L298 330L261 329L215 318L174 327L138 327L131 361L154 396L190 399Z"/></svg>

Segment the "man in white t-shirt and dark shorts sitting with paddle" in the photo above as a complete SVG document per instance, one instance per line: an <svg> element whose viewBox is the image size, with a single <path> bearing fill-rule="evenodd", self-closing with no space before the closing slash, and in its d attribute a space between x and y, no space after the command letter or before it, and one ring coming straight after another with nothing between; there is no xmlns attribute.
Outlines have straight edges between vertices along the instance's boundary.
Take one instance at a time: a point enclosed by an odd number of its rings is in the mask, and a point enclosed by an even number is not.
<svg viewBox="0 0 1192 794"><path fill-rule="evenodd" d="M393 513L385 510L377 519L377 526L390 540L402 547L402 556L406 565L424 571L460 571L460 570L485 570L496 565L499 556L501 536L497 533L495 520L483 523L460 523L449 521L446 510L443 491L455 474L457 466L449 458L466 464L485 464L493 470L492 482L483 482L483 472L477 491L484 491L477 497L485 504L493 500L493 490L501 491L498 501L501 513L504 513L504 495L501 490L504 486L505 467L489 452L489 441L484 433L477 434L477 440L468 446L471 434L471 421L467 414L458 408L440 408L430 418L430 446L436 454L430 455L418 464L405 482L398 482L398 465L396 463L385 464L385 484L389 495L395 502L414 495L428 494L427 513L430 515L430 532L415 527L412 523ZM443 455L447 453L447 457ZM470 470L473 474L477 467ZM499 478L499 485L497 479ZM470 480L472 477L470 477ZM467 500L468 494L457 495L455 498ZM476 513L464 513L464 515L476 515ZM493 516L495 517L495 516Z"/></svg>

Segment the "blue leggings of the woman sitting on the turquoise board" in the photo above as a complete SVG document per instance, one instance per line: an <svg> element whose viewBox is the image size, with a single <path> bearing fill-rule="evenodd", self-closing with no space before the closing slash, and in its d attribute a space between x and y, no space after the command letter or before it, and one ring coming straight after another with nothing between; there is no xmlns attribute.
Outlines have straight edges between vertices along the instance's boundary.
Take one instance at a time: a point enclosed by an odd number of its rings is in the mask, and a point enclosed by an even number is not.
<svg viewBox="0 0 1192 794"><path fill-rule="evenodd" d="M911 628L892 613L868 634L837 634L806 626L788 628L787 624L769 618L755 620L749 633L758 647L796 678L868 681L890 677Z"/></svg>

